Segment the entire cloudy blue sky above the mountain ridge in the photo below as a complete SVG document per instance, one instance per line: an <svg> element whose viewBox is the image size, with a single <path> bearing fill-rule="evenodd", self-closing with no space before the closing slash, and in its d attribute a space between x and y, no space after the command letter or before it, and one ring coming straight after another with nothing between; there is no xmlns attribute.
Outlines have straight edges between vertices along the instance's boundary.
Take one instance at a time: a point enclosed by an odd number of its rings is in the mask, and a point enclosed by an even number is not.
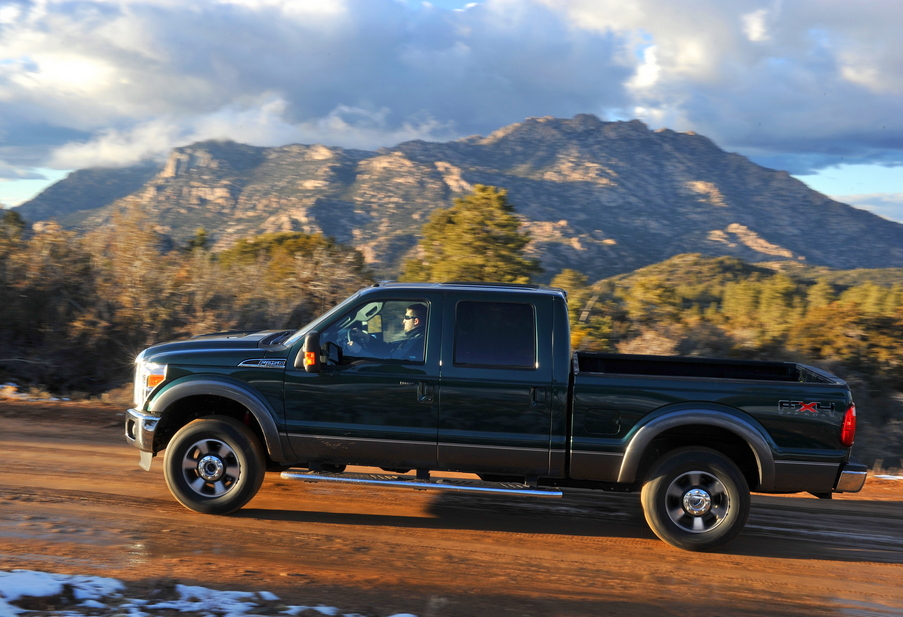
<svg viewBox="0 0 903 617"><path fill-rule="evenodd" d="M0 202L208 138L696 131L903 222L900 0L2 0Z"/></svg>

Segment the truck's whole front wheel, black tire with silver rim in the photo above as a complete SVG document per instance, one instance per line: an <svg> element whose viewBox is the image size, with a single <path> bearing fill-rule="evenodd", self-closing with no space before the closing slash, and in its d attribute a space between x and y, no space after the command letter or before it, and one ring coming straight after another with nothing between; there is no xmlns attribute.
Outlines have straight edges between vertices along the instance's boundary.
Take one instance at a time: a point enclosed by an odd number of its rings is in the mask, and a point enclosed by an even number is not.
<svg viewBox="0 0 903 617"><path fill-rule="evenodd" d="M227 416L189 422L166 448L169 491L202 514L229 514L247 504L263 483L266 455L254 433Z"/></svg>

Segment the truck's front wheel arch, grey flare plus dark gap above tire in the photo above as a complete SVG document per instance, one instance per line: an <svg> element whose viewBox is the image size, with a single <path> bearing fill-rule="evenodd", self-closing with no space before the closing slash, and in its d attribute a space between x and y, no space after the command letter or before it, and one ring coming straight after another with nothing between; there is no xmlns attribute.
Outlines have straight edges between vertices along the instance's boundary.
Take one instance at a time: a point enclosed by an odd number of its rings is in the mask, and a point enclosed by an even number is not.
<svg viewBox="0 0 903 617"><path fill-rule="evenodd" d="M147 410L160 415L154 452L163 450L176 431L192 420L219 414L245 421L273 461L290 458L285 456L272 407L244 382L222 378L177 380L149 401Z"/></svg>

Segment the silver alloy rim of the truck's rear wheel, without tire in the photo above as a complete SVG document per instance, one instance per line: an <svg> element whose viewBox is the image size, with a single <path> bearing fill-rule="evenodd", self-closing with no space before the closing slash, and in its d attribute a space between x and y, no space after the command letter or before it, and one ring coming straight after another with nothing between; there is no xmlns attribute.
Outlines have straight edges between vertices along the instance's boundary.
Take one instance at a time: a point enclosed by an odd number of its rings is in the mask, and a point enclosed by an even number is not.
<svg viewBox="0 0 903 617"><path fill-rule="evenodd" d="M711 531L724 521L730 498L721 481L705 471L688 471L674 478L666 492L671 521L690 533Z"/></svg>

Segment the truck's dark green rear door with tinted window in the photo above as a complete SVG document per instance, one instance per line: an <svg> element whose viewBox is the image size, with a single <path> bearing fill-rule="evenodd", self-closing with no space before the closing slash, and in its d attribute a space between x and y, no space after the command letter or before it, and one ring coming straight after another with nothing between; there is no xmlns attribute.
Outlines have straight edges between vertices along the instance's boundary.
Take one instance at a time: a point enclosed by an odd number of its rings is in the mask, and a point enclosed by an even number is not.
<svg viewBox="0 0 903 617"><path fill-rule="evenodd" d="M526 293L446 295L440 468L549 473L552 310Z"/></svg>

